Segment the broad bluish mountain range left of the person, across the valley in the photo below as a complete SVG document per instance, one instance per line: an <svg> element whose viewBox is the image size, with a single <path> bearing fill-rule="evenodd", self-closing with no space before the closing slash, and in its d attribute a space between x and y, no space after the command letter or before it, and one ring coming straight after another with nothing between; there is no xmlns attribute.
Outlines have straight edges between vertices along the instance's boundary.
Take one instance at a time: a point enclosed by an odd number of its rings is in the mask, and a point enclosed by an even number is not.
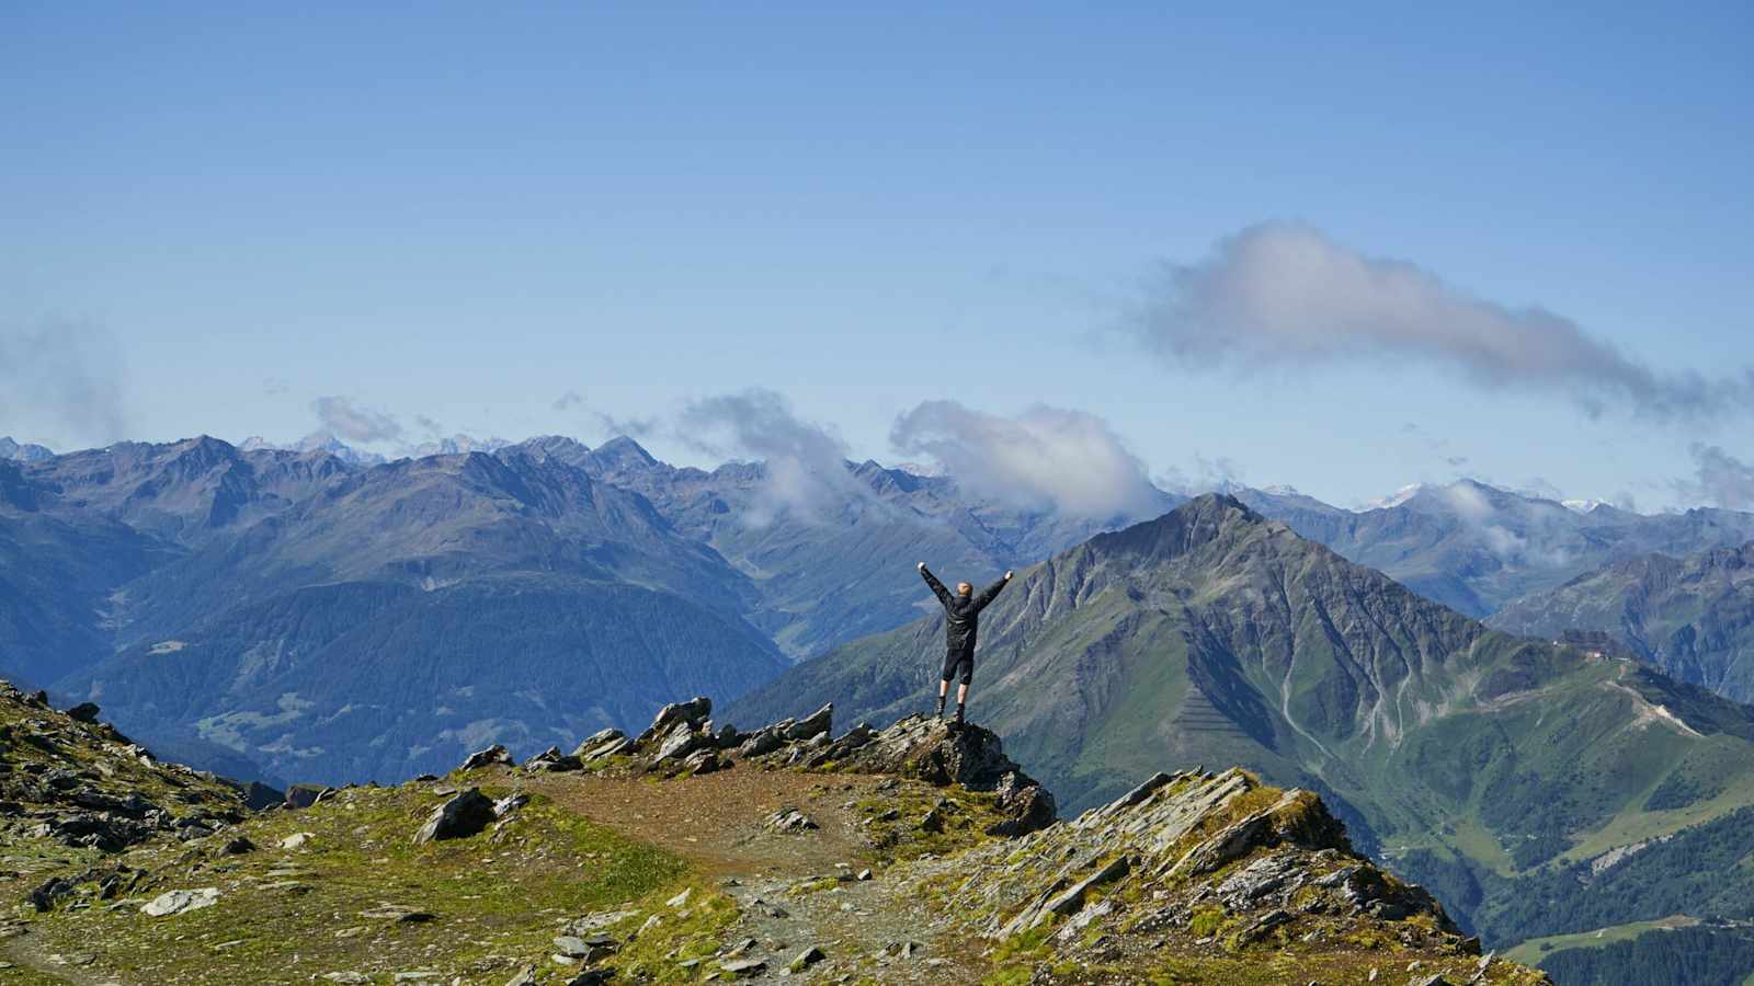
<svg viewBox="0 0 1754 986"><path fill-rule="evenodd" d="M830 491L791 505L761 465L631 440L0 461L0 672L200 765L389 781L735 697L917 616L921 554L991 577L1103 526L873 463Z"/></svg>

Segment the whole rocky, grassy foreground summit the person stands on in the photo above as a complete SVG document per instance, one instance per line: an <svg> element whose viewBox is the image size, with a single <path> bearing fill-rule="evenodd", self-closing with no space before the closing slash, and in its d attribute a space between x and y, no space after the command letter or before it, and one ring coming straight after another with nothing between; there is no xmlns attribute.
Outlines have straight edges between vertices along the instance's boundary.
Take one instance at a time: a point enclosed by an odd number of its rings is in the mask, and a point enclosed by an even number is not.
<svg viewBox="0 0 1754 986"><path fill-rule="evenodd" d="M96 711L12 689L0 709L0 784L28 798L7 812L5 981L1547 981L1479 954L1321 798L1235 768L1059 819L988 728L837 732L824 705L740 730L696 698L574 753L488 747L442 777L251 811ZM128 818L98 798L149 802L149 825L54 823Z"/></svg>

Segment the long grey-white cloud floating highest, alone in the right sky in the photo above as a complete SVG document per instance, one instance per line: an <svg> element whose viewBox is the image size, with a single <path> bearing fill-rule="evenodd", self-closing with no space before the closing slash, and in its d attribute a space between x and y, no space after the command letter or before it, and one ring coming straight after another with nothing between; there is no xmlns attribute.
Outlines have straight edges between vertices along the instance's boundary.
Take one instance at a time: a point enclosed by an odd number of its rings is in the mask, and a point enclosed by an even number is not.
<svg viewBox="0 0 1754 986"><path fill-rule="evenodd" d="M1559 314L1480 298L1296 225L1252 226L1198 263L1166 267L1130 325L1189 368L1375 360L1440 367L1491 389L1561 393L1593 416L1610 405L1659 419L1754 407L1754 370L1659 372Z"/></svg>

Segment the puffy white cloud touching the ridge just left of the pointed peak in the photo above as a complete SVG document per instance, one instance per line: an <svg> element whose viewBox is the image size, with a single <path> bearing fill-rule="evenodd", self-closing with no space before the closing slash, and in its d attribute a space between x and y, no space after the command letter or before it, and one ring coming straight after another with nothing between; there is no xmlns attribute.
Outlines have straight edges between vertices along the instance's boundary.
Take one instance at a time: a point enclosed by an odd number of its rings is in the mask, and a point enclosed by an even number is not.
<svg viewBox="0 0 1754 986"><path fill-rule="evenodd" d="M1161 505L1145 465L1102 418L1037 405L1016 418L928 400L896 418L889 442L931 456L972 493L1082 518L1145 516Z"/></svg>

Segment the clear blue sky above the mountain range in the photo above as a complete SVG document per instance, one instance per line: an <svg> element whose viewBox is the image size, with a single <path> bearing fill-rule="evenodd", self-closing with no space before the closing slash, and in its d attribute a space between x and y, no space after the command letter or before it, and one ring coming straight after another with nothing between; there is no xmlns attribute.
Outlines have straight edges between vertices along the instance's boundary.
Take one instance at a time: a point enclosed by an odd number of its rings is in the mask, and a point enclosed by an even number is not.
<svg viewBox="0 0 1754 986"><path fill-rule="evenodd" d="M1651 509L1754 460L1747 5L831 7L5 5L0 435L293 440L344 397L386 449L609 416L709 461L761 442L688 411L765 388L854 458L1049 405L1342 504ZM1142 323L1261 228L1366 293L1417 265L1433 321ZM1631 375L1544 363L1529 307ZM1708 407L1622 386L1689 372Z"/></svg>

